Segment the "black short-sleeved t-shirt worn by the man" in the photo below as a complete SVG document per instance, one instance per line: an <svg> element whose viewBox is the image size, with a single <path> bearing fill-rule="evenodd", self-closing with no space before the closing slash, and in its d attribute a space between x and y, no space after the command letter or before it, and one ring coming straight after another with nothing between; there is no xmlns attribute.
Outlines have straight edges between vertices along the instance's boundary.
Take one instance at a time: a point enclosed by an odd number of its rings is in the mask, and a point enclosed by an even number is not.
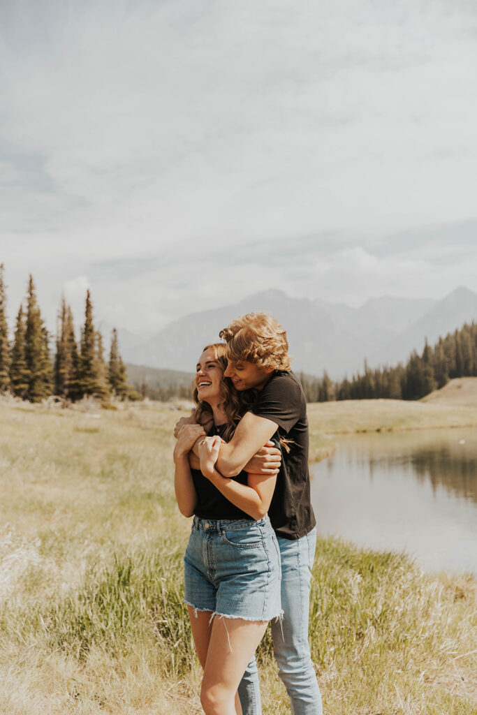
<svg viewBox="0 0 477 715"><path fill-rule="evenodd" d="M295 375L285 370L272 373L258 393L252 413L275 422L280 437L292 440L290 452L282 449L282 465L268 510L272 526L277 536L291 540L305 536L316 521L310 502L306 399Z"/></svg>

